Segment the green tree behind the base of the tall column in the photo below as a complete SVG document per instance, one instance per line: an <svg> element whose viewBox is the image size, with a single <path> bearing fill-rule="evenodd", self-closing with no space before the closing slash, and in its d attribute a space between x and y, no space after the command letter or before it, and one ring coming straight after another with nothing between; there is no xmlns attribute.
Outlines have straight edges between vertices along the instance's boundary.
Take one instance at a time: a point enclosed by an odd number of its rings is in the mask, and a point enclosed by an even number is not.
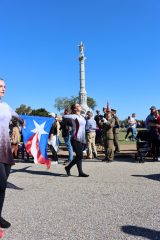
<svg viewBox="0 0 160 240"><path fill-rule="evenodd" d="M55 99L54 107L57 108L58 111L61 111L77 102L79 102L79 97L76 96L71 96L70 98L58 97ZM87 104L92 110L97 106L96 101L91 97L87 97Z"/></svg>

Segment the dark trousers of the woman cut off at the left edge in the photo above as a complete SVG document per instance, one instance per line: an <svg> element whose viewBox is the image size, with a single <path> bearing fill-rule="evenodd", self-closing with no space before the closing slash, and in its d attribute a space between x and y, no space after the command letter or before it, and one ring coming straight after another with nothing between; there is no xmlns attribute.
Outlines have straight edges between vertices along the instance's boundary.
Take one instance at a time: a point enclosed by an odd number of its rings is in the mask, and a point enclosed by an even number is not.
<svg viewBox="0 0 160 240"><path fill-rule="evenodd" d="M5 191L7 187L7 179L10 173L11 165L0 163L0 216L2 213Z"/></svg>

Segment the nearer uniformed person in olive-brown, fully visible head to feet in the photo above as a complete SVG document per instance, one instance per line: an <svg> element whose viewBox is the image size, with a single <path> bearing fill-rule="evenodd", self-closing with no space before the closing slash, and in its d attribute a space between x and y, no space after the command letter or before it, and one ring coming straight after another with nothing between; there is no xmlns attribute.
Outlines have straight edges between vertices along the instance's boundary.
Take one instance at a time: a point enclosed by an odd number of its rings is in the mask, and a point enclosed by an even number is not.
<svg viewBox="0 0 160 240"><path fill-rule="evenodd" d="M107 109L105 121L100 122L103 132L104 132L104 149L105 149L105 158L103 161L107 163L114 160L114 135L113 128L115 126L115 119L112 117L112 112Z"/></svg>

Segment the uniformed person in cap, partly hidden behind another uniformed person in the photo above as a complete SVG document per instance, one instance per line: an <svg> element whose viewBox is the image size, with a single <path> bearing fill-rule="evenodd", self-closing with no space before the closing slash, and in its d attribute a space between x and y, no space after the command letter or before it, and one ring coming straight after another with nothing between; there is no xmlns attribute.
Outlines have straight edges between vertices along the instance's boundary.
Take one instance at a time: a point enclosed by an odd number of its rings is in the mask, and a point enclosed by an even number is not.
<svg viewBox="0 0 160 240"><path fill-rule="evenodd" d="M119 146L119 118L117 117L116 113L117 110L111 109L112 117L115 119L115 125L113 128L113 135L114 135L114 146L115 146L115 153L120 152L120 146Z"/></svg>

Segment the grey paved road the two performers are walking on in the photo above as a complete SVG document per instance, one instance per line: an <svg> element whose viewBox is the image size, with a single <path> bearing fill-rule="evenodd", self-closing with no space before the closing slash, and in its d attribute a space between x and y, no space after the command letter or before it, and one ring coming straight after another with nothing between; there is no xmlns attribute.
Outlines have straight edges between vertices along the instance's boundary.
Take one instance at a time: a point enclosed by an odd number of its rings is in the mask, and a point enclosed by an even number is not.
<svg viewBox="0 0 160 240"><path fill-rule="evenodd" d="M160 162L85 160L89 178L62 164L17 163L8 179L3 240L160 239Z"/></svg>

